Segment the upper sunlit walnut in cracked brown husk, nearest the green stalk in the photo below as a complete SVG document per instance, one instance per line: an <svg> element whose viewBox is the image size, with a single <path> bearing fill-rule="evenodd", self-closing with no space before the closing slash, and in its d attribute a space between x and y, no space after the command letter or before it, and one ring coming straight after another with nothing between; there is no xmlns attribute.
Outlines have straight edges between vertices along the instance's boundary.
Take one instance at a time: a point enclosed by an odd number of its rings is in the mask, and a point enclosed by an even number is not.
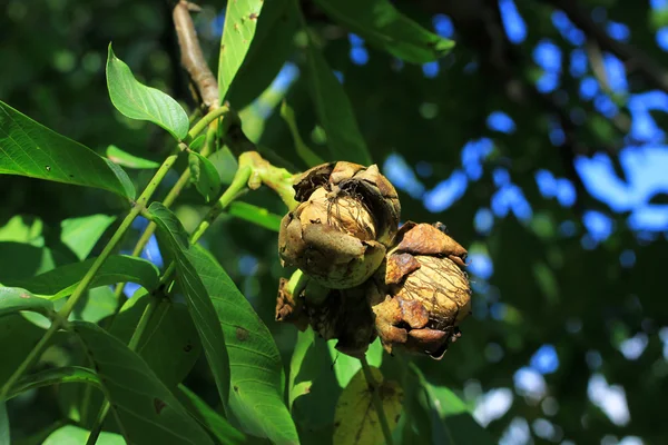
<svg viewBox="0 0 668 445"><path fill-rule="evenodd" d="M294 185L299 202L281 224L278 253L318 284L347 289L379 268L397 231L396 190L377 166L331 162Z"/></svg>

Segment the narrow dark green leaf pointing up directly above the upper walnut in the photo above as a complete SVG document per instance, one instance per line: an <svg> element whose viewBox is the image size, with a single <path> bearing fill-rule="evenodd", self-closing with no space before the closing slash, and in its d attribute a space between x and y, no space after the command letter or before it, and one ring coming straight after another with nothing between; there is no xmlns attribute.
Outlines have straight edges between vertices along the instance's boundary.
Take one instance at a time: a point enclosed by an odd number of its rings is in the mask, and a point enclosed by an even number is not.
<svg viewBox="0 0 668 445"><path fill-rule="evenodd" d="M305 24L304 30L307 32ZM369 166L371 155L343 86L311 37L306 47L306 77L317 120L327 136L330 159Z"/></svg>

